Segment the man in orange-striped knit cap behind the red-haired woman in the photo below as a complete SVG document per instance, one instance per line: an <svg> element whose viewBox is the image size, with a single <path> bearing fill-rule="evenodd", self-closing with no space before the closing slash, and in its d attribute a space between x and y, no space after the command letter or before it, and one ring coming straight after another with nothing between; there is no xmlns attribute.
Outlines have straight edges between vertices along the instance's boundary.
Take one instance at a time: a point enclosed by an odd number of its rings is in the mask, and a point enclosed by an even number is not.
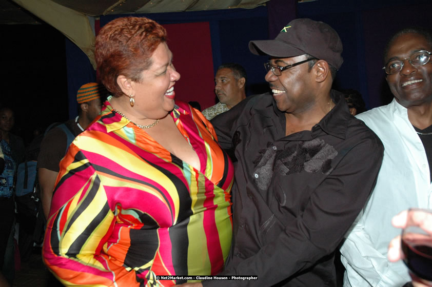
<svg viewBox="0 0 432 287"><path fill-rule="evenodd" d="M78 116L52 128L42 140L37 156L37 178L45 218L48 218L51 206L54 183L59 171L58 163L65 156L71 141L101 113L101 98L105 99L106 93L105 88L97 83L81 86L76 94L76 101L80 105Z"/></svg>

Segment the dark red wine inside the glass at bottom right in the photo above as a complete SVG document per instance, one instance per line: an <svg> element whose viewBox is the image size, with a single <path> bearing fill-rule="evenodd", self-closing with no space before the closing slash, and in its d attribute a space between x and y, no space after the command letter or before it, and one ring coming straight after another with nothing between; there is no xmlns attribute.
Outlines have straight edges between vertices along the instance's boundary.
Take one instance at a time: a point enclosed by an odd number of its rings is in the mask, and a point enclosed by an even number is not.
<svg viewBox="0 0 432 287"><path fill-rule="evenodd" d="M402 251L408 269L432 284L432 238L402 236Z"/></svg>

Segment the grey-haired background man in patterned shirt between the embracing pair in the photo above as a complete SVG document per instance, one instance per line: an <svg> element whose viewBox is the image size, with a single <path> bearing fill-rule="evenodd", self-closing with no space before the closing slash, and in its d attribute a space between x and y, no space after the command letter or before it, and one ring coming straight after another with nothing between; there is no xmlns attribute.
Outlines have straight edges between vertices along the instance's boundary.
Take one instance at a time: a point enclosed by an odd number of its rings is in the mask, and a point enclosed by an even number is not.
<svg viewBox="0 0 432 287"><path fill-rule="evenodd" d="M219 66L214 76L214 93L219 103L203 111L203 115L211 120L213 117L228 111L246 98L246 70L236 63Z"/></svg>

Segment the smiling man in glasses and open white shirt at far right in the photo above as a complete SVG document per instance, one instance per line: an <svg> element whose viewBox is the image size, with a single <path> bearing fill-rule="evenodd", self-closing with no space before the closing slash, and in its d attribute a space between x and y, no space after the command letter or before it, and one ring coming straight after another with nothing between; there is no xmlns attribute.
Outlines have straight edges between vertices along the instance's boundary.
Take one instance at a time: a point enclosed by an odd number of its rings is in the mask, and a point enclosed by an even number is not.
<svg viewBox="0 0 432 287"><path fill-rule="evenodd" d="M400 233L391 218L402 210L432 209L432 36L421 29L396 33L384 53L388 86L395 96L357 116L384 144L377 185L342 245L344 286L403 286L402 261L389 262L387 247Z"/></svg>

